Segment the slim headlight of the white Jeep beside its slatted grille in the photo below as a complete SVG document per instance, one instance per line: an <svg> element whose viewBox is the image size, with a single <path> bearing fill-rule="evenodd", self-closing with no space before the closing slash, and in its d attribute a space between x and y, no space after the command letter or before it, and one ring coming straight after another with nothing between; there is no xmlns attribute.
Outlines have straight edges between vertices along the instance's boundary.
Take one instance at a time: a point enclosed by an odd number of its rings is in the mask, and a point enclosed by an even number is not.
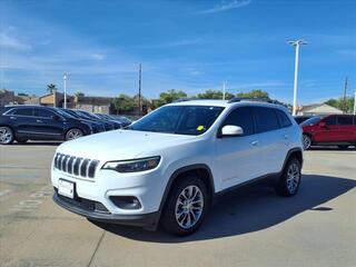
<svg viewBox="0 0 356 267"><path fill-rule="evenodd" d="M126 161L109 161L105 164L102 169L112 169L118 172L137 172L155 169L158 166L159 161L159 156Z"/></svg>

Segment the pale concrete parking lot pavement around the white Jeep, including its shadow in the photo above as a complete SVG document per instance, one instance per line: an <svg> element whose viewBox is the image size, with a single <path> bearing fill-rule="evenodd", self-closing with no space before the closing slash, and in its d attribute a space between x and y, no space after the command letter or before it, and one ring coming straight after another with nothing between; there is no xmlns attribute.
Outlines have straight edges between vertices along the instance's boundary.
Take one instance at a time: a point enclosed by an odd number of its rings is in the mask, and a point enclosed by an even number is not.
<svg viewBox="0 0 356 267"><path fill-rule="evenodd" d="M51 199L56 142L0 147L0 266L356 266L356 150L305 152L299 194L224 196L201 229L96 225Z"/></svg>

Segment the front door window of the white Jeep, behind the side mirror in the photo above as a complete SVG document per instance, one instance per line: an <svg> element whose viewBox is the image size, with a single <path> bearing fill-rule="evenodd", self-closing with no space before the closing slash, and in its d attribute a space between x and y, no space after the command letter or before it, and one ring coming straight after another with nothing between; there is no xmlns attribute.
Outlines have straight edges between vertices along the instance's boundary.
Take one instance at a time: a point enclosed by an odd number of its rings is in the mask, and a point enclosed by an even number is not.
<svg viewBox="0 0 356 267"><path fill-rule="evenodd" d="M250 108L243 107L237 108L234 111L231 111L226 120L224 121L224 126L233 125L233 126L239 126L244 130L244 136L249 136L254 134L254 119L250 111Z"/></svg>

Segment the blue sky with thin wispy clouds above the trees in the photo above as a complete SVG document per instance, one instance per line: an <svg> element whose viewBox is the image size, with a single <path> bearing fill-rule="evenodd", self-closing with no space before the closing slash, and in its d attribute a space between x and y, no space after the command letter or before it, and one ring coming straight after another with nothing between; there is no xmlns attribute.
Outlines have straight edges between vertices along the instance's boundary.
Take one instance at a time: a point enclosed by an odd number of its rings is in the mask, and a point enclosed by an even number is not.
<svg viewBox="0 0 356 267"><path fill-rule="evenodd" d="M167 89L195 95L263 89L291 102L300 50L299 103L356 89L353 0L0 0L0 88L42 95L52 82L92 96Z"/></svg>

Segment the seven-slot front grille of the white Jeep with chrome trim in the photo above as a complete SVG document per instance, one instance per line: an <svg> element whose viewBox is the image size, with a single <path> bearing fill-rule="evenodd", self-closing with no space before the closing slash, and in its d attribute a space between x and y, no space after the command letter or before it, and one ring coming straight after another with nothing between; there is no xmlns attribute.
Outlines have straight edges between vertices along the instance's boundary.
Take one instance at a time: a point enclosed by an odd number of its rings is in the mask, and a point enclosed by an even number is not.
<svg viewBox="0 0 356 267"><path fill-rule="evenodd" d="M88 158L77 158L70 155L56 154L55 168L69 175L83 178L93 178L99 160Z"/></svg>

